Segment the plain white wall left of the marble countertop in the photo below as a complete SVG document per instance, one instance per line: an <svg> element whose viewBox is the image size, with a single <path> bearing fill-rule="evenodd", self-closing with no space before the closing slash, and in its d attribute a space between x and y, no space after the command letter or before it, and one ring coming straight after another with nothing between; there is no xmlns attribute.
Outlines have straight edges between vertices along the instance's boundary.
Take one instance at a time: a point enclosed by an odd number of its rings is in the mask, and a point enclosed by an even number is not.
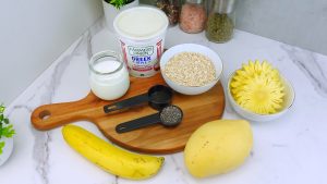
<svg viewBox="0 0 327 184"><path fill-rule="evenodd" d="M101 14L100 1L1 1L0 102L10 105Z"/></svg>

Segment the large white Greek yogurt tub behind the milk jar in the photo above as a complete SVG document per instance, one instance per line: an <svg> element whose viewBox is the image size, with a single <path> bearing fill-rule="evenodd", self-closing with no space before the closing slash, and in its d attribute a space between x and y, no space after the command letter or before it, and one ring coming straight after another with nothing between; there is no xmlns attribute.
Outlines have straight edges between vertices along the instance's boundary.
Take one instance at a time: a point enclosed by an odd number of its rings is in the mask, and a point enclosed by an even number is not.
<svg viewBox="0 0 327 184"><path fill-rule="evenodd" d="M156 8L131 8L116 16L113 27L130 74L136 77L155 75L160 69L167 15Z"/></svg>

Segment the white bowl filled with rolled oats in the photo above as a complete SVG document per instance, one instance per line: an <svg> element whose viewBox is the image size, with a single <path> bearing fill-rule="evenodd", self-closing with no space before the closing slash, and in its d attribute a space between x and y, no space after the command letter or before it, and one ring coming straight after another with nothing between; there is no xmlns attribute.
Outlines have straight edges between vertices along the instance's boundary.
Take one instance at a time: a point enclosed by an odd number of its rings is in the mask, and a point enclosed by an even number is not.
<svg viewBox="0 0 327 184"><path fill-rule="evenodd" d="M211 49L182 44L164 52L160 69L165 82L175 91L184 95L199 95L219 81L222 62Z"/></svg>

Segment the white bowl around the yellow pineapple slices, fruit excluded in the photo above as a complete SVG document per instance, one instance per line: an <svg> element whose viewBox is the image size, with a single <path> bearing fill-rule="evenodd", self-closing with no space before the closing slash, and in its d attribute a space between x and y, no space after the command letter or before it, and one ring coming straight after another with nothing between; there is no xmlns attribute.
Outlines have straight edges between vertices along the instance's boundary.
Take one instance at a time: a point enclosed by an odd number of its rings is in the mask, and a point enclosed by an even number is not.
<svg viewBox="0 0 327 184"><path fill-rule="evenodd" d="M234 98L231 95L230 91L230 83L231 79L233 77L234 73L231 74L231 76L229 77L228 84L227 84L227 96L228 99L232 106L232 108L243 118L247 119L247 120L252 120L252 121L256 121L256 122L268 122L268 121L272 121L276 120L278 118L280 118L281 115L283 115L286 112L288 112L295 99L295 93L294 89L291 85L291 83L289 81L287 81L287 78L284 78L281 74L280 74L280 78L281 82L284 86L284 97L283 97L283 103L282 103L282 110L280 110L277 113L272 113L272 114L259 114L259 113L255 113L252 111L249 111L244 108L242 108L241 106L239 106L237 103L237 101L234 100Z"/></svg>

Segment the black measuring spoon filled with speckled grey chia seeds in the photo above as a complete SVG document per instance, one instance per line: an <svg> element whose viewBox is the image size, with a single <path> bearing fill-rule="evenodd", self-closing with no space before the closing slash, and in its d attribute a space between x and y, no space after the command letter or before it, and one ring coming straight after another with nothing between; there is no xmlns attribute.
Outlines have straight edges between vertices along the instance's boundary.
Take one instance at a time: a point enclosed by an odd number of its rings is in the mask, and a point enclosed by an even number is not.
<svg viewBox="0 0 327 184"><path fill-rule="evenodd" d="M180 124L182 119L183 111L181 110L181 108L170 105L165 107L158 113L121 123L116 126L116 132L121 134L157 123L161 123L164 126L172 127Z"/></svg>

